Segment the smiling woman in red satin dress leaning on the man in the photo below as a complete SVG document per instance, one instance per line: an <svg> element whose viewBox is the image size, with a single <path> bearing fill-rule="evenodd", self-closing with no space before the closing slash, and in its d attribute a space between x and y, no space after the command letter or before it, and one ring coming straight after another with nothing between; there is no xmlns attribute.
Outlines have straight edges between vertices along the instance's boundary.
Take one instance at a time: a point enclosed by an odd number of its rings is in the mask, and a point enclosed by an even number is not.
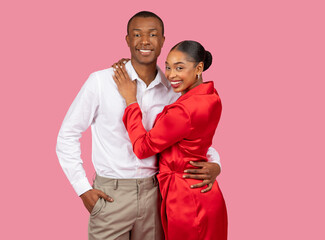
<svg viewBox="0 0 325 240"><path fill-rule="evenodd" d="M190 186L197 180L182 178L190 161L206 159L218 125L221 101L213 82L201 74L212 63L210 52L195 41L175 45L166 60L166 78L182 96L158 114L147 132L136 103L136 83L125 69L114 80L127 107L123 121L138 158L159 154L158 174L162 195L162 224L167 240L227 239L227 212L217 182L208 193Z"/></svg>

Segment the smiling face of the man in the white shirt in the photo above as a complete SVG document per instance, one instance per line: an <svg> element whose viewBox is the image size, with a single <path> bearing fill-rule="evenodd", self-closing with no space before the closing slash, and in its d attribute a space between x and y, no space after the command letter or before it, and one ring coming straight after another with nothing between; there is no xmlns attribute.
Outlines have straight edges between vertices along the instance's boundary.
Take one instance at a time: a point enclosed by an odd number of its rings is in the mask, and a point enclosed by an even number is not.
<svg viewBox="0 0 325 240"><path fill-rule="evenodd" d="M165 41L161 23L154 17L135 17L130 22L126 41L134 64L156 64Z"/></svg>

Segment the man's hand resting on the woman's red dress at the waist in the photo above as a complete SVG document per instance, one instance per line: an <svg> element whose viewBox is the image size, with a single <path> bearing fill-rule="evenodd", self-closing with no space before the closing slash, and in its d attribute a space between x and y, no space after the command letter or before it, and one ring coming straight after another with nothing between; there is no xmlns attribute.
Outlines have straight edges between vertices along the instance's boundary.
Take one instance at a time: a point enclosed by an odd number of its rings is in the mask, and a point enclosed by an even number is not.
<svg viewBox="0 0 325 240"><path fill-rule="evenodd" d="M212 162L190 162L196 169L186 169L185 173L190 173L183 175L183 178L192 178L203 180L201 183L192 185L191 188L200 188L208 185L207 188L202 189L201 192L205 193L212 189L213 183L216 181L217 176L220 174L220 166L217 163Z"/></svg>

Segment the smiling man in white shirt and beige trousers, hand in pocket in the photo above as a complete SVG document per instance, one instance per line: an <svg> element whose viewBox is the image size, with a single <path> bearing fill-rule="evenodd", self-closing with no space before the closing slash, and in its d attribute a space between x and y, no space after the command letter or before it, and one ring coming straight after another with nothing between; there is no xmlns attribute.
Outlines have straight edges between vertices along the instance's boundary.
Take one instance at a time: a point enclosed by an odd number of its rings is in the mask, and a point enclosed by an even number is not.
<svg viewBox="0 0 325 240"><path fill-rule="evenodd" d="M139 12L129 20L126 41L131 61L125 67L137 81L137 99L147 130L163 107L179 97L156 65L164 40L163 22L154 13ZM122 122L125 102L113 74L113 68L109 68L90 75L62 123L57 155L90 212L89 239L163 239L156 157L139 160L134 155ZM79 143L90 125L96 170L93 188L82 167ZM213 149L208 158L219 161ZM217 163L193 163L197 169L187 170L192 175L186 177L202 179L193 187L208 185L209 190L220 172Z"/></svg>

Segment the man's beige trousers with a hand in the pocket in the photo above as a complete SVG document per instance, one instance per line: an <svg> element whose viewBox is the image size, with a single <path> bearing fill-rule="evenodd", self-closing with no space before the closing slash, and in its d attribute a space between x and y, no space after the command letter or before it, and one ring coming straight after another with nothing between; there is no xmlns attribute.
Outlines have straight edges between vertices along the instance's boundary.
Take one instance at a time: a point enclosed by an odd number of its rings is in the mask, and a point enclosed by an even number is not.
<svg viewBox="0 0 325 240"><path fill-rule="evenodd" d="M89 218L89 240L162 240L160 193L156 177L110 179L96 176L95 189L114 199L100 198Z"/></svg>

